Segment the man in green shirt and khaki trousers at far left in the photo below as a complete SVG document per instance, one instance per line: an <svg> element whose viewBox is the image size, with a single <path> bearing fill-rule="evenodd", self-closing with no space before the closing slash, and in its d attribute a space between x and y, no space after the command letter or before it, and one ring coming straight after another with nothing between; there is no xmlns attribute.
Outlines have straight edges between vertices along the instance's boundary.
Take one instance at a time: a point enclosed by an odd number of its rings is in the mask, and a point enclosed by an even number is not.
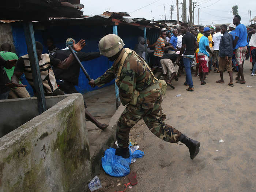
<svg viewBox="0 0 256 192"><path fill-rule="evenodd" d="M1 45L1 51L0 55L5 59L5 60L12 60L12 59L19 59L18 56L15 53L11 52L11 45L8 43L3 43ZM12 75L14 73L14 67L11 69L7 69L4 67L4 70L8 76L8 78L11 80ZM21 84L21 82L19 82ZM25 87L15 87L12 88L11 91L9 92L9 99L15 99L15 98L25 98L25 97L30 97L29 92L27 92Z"/></svg>

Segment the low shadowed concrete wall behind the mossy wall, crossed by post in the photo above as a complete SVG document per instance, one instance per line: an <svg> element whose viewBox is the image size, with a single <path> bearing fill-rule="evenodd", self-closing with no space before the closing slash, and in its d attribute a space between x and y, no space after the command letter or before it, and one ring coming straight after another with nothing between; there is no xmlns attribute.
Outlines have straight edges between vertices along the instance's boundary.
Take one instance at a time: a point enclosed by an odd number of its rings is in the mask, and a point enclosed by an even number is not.
<svg viewBox="0 0 256 192"><path fill-rule="evenodd" d="M66 97L46 97L46 109ZM0 138L39 115L36 97L0 100L0 109Z"/></svg>

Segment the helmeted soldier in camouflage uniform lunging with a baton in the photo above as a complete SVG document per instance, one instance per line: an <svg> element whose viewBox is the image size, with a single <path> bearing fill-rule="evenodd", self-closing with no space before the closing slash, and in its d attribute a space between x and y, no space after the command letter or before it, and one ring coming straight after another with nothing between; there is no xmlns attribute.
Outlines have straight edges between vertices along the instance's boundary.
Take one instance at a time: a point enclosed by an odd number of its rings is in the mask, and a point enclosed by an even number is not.
<svg viewBox="0 0 256 192"><path fill-rule="evenodd" d="M146 62L134 51L123 49L123 46L123 40L114 34L106 35L99 41L100 53L114 61L114 64L102 76L89 82L92 87L100 87L113 80L117 74L119 97L123 106L127 106L117 123L116 138L120 148L117 148L116 155L129 158L130 129L143 118L147 127L158 138L170 143L184 143L193 159L199 153L200 143L165 124L166 116L161 107L162 95L157 80ZM121 71L120 76L118 70ZM131 104L135 92L139 93L136 94L138 99L136 104Z"/></svg>

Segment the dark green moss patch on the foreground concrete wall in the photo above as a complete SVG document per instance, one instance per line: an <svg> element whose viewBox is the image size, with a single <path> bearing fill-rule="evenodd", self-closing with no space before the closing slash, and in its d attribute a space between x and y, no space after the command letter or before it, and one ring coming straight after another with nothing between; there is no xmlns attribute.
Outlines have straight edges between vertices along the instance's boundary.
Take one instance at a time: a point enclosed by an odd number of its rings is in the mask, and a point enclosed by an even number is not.
<svg viewBox="0 0 256 192"><path fill-rule="evenodd" d="M60 114L60 118L65 121L61 124L63 132L57 133L57 139L54 143L54 150L58 150L63 162L65 175L63 175L65 190L68 190L72 175L78 169L80 165L84 165L86 159L90 160L89 145L86 143L82 147L82 140L79 135L80 123L78 118L80 114L74 110L74 106L71 106L73 110L63 110ZM68 116L67 116L68 114Z"/></svg>

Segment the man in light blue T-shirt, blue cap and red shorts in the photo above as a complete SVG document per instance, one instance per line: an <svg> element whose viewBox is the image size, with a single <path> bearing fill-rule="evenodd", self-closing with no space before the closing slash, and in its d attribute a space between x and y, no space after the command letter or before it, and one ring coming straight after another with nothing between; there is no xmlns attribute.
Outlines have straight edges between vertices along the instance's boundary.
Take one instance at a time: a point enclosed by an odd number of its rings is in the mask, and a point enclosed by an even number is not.
<svg viewBox="0 0 256 192"><path fill-rule="evenodd" d="M210 28L205 27L204 36L202 36L199 41L199 52L197 54L198 61L199 61L199 75L200 75L201 85L206 84L204 79L205 79L206 73L209 71L208 69L208 58L210 56L209 53L213 55L213 52L209 47L209 40L208 40L209 35L210 35Z"/></svg>

